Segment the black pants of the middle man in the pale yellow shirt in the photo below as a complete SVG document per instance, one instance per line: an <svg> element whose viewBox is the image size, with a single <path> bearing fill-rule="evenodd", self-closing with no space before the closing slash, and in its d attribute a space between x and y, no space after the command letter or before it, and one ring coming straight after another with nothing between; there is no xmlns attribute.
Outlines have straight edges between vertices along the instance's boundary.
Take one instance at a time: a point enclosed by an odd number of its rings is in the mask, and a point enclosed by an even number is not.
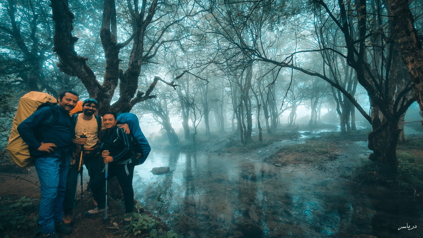
<svg viewBox="0 0 423 238"><path fill-rule="evenodd" d="M87 167L88 175L90 176L91 180L93 177L101 178L104 184L104 173L103 171L103 161L101 155L97 155L91 158L84 159L84 164ZM76 163L69 168L68 178L66 181L66 192L65 192L65 200L63 201L63 209L71 210L73 209L74 201L75 201L75 193L77 189L77 176L78 176L78 167L79 167L79 158L76 159ZM81 172L83 167L81 166ZM101 177L103 174L103 177ZM79 178L79 183L81 183L81 178ZM104 185L103 185L104 186ZM99 188L98 191L92 191L94 193L94 197L96 193L104 194L104 187L101 189Z"/></svg>

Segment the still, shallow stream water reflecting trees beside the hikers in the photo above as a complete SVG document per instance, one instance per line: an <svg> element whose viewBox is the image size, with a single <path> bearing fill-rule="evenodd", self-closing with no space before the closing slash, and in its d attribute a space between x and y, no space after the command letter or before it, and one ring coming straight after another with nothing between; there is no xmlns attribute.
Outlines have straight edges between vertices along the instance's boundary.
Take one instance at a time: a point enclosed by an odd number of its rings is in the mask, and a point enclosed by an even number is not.
<svg viewBox="0 0 423 238"><path fill-rule="evenodd" d="M170 172L150 172L160 166ZM417 238L423 229L421 204L306 165L281 168L227 154L153 151L135 173L136 199L187 238ZM417 229L398 231L406 223Z"/></svg>

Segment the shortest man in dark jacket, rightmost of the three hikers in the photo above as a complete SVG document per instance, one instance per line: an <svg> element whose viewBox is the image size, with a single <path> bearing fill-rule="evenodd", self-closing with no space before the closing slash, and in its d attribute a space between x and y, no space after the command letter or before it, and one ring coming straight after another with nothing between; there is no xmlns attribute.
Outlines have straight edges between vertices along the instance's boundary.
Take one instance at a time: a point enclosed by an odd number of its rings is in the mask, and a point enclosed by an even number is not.
<svg viewBox="0 0 423 238"><path fill-rule="evenodd" d="M124 194L125 212L131 214L134 211L134 189L132 180L134 176L135 164L123 163L133 155L132 135L124 132L117 124L117 116L115 113L106 113L103 116L103 124L106 130L102 134L102 157L104 163L109 163L108 179L117 177L119 185ZM103 180L91 178L91 187L94 190L100 190L104 186ZM87 211L85 217L93 217L94 215L105 211L105 194L96 196L97 207ZM127 220L127 219L125 219ZM128 220L130 221L130 220Z"/></svg>

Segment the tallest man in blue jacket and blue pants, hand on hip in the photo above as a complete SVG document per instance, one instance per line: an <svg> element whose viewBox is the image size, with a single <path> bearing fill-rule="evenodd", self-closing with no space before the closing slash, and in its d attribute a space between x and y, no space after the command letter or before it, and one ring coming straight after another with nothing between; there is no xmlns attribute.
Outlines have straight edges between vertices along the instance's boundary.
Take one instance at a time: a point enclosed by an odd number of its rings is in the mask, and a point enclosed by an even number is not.
<svg viewBox="0 0 423 238"><path fill-rule="evenodd" d="M69 112L75 108L78 98L78 94L73 91L63 92L55 108L41 108L17 127L23 141L29 146L40 181L38 224L41 226L42 237L55 238L56 232L64 235L72 233L72 228L65 225L62 218L69 170L69 146L72 141ZM55 115L54 110L57 110L57 121L48 130L41 131L40 136L40 128Z"/></svg>

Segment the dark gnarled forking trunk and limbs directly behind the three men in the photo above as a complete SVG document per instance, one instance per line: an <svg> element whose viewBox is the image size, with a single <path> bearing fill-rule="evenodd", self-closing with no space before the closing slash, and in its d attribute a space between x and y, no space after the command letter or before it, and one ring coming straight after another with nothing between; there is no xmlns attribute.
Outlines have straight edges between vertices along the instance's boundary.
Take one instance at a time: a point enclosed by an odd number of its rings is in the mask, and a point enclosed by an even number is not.
<svg viewBox="0 0 423 238"><path fill-rule="evenodd" d="M55 23L53 51L59 58L57 66L62 72L76 76L81 80L90 97L99 101L100 113L105 111L129 112L135 104L155 97L150 94L157 81L161 80L157 77L154 78L145 93L137 92L141 64L148 57L148 54L144 54L145 28L152 20L157 7L157 0L151 2L149 9L146 8L146 4L142 4L142 7L139 12L138 6L134 9L131 2L128 1L128 9L133 18L133 37L124 43L119 43L115 0L105 0L100 38L105 51L106 71L103 84L100 85L96 75L86 63L88 58L79 56L75 51L75 43L78 38L72 36L74 14L69 9L68 1L51 0L52 17ZM129 42L133 42L133 48L128 68L124 72L120 68L119 53L121 48ZM120 97L117 102L111 105L118 84Z"/></svg>

